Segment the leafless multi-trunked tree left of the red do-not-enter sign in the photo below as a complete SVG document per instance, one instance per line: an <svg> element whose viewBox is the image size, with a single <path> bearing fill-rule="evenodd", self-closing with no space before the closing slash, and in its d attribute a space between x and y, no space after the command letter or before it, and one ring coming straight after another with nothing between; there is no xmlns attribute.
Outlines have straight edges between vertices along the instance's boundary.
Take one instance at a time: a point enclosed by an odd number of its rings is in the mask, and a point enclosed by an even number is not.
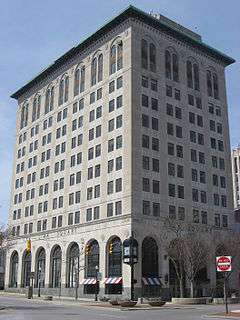
<svg viewBox="0 0 240 320"><path fill-rule="evenodd" d="M194 285L200 270L209 258L211 229L192 223L165 219L162 243L172 262L184 297L184 279L190 283L190 296L194 297Z"/></svg>

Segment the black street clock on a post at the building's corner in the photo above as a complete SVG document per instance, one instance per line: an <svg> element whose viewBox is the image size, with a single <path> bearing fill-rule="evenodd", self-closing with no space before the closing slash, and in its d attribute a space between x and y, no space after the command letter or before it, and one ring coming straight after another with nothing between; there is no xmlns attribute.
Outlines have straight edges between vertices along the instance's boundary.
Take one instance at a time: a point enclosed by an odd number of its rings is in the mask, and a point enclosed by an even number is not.
<svg viewBox="0 0 240 320"><path fill-rule="evenodd" d="M131 236L123 241L123 262L131 267L131 300L134 300L134 264L138 262L138 242Z"/></svg>

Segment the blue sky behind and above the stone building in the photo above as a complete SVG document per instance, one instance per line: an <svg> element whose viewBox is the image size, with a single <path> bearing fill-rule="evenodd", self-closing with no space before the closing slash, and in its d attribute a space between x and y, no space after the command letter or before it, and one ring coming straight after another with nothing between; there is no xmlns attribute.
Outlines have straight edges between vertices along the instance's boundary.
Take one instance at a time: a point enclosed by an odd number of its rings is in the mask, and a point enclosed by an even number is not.
<svg viewBox="0 0 240 320"><path fill-rule="evenodd" d="M9 201L17 102L10 94L128 5L153 10L200 33L237 62L226 70L231 145L240 143L239 0L0 1L0 222Z"/></svg>

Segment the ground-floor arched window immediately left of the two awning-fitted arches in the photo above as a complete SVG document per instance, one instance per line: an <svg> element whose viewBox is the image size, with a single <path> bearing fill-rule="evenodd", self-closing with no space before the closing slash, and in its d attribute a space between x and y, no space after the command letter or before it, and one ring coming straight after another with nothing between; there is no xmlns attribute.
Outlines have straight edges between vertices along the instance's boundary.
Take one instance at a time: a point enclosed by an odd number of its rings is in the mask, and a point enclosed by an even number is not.
<svg viewBox="0 0 240 320"><path fill-rule="evenodd" d="M78 286L79 279L79 247L73 243L67 254L67 286L74 288Z"/></svg>

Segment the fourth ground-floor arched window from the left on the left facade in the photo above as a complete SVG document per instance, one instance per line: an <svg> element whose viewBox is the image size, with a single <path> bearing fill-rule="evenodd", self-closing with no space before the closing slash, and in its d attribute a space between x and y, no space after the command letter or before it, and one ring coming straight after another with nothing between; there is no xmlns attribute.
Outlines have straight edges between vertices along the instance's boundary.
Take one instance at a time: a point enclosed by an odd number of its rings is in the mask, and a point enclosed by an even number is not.
<svg viewBox="0 0 240 320"><path fill-rule="evenodd" d="M61 285L61 269L62 269L62 250L59 246L55 246L51 253L51 270L50 284L52 288L58 288Z"/></svg>

